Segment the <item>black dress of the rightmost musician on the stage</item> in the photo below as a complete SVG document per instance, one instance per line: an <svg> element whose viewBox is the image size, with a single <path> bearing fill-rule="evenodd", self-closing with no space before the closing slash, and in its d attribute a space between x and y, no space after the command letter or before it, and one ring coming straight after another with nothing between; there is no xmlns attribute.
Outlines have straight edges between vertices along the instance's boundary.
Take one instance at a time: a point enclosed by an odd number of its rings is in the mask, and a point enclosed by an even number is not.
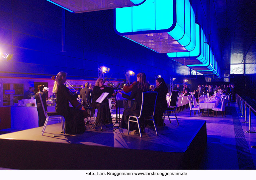
<svg viewBox="0 0 256 180"><path fill-rule="evenodd" d="M167 109L167 101L166 101L166 91L159 86L158 88L154 89L155 92L158 92L157 101L156 101L156 109L154 114L155 123L158 126L163 126L163 114L164 111Z"/></svg>

